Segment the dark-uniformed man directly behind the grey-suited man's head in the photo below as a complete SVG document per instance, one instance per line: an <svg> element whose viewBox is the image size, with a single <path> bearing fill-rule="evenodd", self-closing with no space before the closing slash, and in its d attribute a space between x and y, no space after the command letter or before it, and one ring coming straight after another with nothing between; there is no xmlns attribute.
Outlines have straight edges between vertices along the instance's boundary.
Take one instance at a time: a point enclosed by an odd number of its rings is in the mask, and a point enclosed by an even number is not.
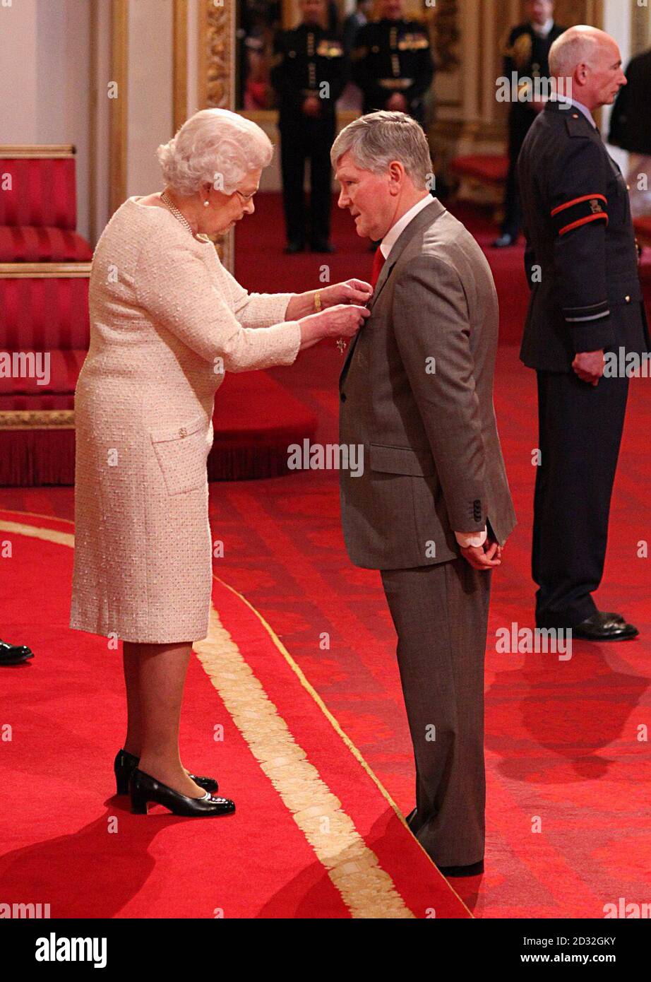
<svg viewBox="0 0 651 982"><path fill-rule="evenodd" d="M363 113L391 109L425 120L423 95L434 66L427 27L403 18L403 0L381 0L381 20L357 31L353 81L363 92Z"/></svg>

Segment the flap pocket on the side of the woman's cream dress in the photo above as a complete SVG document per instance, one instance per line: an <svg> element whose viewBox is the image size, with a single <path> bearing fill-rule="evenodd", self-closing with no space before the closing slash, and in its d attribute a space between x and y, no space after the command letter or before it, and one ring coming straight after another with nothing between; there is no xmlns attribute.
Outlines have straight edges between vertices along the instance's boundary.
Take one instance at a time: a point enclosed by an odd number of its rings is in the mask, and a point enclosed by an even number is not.
<svg viewBox="0 0 651 982"><path fill-rule="evenodd" d="M202 415L175 429L149 430L169 495L187 494L205 487L206 458L210 450L208 428Z"/></svg>

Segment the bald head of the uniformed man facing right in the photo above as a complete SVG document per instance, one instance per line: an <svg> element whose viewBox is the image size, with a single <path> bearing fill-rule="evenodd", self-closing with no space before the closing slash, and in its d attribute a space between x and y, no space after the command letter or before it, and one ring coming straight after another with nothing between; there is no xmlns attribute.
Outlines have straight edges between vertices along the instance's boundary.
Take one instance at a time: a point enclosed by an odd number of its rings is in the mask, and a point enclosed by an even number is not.
<svg viewBox="0 0 651 982"><path fill-rule="evenodd" d="M570 27L552 44L549 67L560 94L597 109L614 102L626 79L614 37L598 27Z"/></svg>

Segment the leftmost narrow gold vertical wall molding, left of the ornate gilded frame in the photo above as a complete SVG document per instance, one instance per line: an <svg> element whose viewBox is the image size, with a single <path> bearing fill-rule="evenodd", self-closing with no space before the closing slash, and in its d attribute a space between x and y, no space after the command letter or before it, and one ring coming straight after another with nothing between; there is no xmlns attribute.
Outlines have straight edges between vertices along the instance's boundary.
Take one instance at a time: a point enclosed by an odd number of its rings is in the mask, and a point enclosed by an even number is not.
<svg viewBox="0 0 651 982"><path fill-rule="evenodd" d="M117 82L118 97L110 100L110 192L113 214L127 196L127 134L129 79L129 0L111 4L111 82Z"/></svg>

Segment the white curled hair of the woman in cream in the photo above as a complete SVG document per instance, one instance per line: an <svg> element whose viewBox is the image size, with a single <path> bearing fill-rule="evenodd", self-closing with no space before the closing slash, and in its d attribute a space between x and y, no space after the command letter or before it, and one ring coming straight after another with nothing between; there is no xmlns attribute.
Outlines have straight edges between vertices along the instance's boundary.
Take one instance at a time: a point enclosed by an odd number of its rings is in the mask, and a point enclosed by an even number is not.
<svg viewBox="0 0 651 982"><path fill-rule="evenodd" d="M249 171L267 167L269 137L250 120L228 109L202 109L190 116L156 154L165 183L190 196L202 185L232 194Z"/></svg>

